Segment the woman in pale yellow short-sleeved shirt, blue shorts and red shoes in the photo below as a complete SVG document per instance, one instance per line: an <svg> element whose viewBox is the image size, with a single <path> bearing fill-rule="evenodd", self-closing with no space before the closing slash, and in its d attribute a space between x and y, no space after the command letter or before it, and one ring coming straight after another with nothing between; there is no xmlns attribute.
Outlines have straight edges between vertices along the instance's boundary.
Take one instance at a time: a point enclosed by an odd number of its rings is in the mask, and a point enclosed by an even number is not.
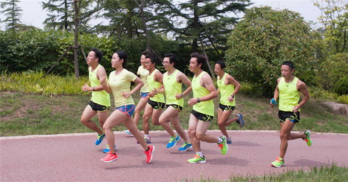
<svg viewBox="0 0 348 182"><path fill-rule="evenodd" d="M123 68L126 61L127 53L125 53L125 51L116 51L116 53L113 53L111 67L115 68L116 70L111 72L109 82L106 82L105 78L100 81L106 92L113 93L116 106L116 110L113 111L108 119L106 119L104 124L106 140L109 146L113 146L115 144L115 135L113 134L112 128L122 123L141 144L141 147L143 147L145 150L144 153L146 154L146 163L150 163L152 160L152 152L155 151L155 147L149 146L145 142L143 133L141 133L141 131L139 131L139 129L136 127L132 117L135 110L132 94L140 90L140 88L143 86L143 81L141 81L141 79L132 72L129 72L127 69ZM136 83L136 87L133 90L130 90L131 82ZM113 149L113 147L110 147L108 154L100 160L102 160L102 162L109 163L117 159L118 156L116 154L116 150Z"/></svg>

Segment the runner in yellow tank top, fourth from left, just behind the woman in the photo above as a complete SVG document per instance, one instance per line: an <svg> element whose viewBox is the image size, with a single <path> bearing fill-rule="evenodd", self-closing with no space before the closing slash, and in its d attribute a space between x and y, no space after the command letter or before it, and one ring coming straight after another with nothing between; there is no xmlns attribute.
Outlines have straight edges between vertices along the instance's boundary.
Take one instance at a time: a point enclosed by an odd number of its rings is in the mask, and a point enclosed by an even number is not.
<svg viewBox="0 0 348 182"><path fill-rule="evenodd" d="M148 104L145 106L145 111L143 114L143 130L145 134L145 140L148 143L151 143L150 139L150 123L149 119L151 117L151 122L154 125L159 125L159 116L164 110L164 95L157 93L157 90L163 87L163 75L159 72L155 65L157 63L157 57L155 53L149 52L145 56L145 65L146 69L149 71L148 75L148 86L149 94L146 99Z"/></svg>

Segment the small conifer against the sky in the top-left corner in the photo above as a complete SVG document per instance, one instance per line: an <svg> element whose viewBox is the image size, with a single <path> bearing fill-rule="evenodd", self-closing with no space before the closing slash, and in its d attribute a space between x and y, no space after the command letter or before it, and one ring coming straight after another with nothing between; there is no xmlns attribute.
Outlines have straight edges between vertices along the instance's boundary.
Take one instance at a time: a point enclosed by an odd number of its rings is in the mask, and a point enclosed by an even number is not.
<svg viewBox="0 0 348 182"><path fill-rule="evenodd" d="M0 12L7 16L6 19L3 20L3 22L6 22L7 29L17 30L19 24L21 24L20 17L22 15L22 9L19 8L17 3L19 3L19 0L9 0L1 2L1 8L7 7L6 9L1 10Z"/></svg>

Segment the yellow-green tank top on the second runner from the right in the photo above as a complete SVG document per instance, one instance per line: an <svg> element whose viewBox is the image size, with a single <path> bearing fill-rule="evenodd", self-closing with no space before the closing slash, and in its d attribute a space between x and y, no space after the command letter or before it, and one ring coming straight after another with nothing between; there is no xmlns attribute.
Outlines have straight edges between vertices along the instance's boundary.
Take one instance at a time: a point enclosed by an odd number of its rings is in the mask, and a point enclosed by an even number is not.
<svg viewBox="0 0 348 182"><path fill-rule="evenodd" d="M226 80L226 76L228 74L225 73L223 74L222 78L220 79L220 76L218 76L217 79L217 85L219 88L219 92L221 94L220 96L220 103L225 105L225 106L236 106L236 98L233 99L233 101L228 101L228 97L230 97L230 95L235 92L235 85L232 84L225 84L225 80Z"/></svg>

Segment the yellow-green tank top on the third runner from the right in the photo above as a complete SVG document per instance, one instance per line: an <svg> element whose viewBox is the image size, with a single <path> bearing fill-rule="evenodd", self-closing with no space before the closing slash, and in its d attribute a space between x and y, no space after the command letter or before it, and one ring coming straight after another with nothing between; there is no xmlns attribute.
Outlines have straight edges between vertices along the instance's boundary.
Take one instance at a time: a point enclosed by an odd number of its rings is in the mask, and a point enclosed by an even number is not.
<svg viewBox="0 0 348 182"><path fill-rule="evenodd" d="M209 90L200 85L200 78L202 78L204 74L207 74L207 72L201 72L198 76L193 76L192 78L191 87L194 98L205 97L210 94ZM196 110L198 113L214 116L214 103L212 100L201 101L193 106L193 110Z"/></svg>

